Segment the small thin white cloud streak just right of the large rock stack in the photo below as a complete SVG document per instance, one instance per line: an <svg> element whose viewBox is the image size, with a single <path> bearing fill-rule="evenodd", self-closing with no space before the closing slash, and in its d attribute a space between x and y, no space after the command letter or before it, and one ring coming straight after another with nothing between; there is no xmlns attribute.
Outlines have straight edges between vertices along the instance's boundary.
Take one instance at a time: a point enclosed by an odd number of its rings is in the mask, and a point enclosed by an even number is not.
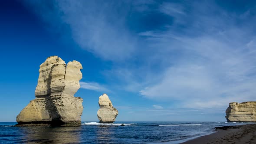
<svg viewBox="0 0 256 144"><path fill-rule="evenodd" d="M107 88L98 84L97 82L80 82L80 87L83 89L89 89L98 92L109 92Z"/></svg>

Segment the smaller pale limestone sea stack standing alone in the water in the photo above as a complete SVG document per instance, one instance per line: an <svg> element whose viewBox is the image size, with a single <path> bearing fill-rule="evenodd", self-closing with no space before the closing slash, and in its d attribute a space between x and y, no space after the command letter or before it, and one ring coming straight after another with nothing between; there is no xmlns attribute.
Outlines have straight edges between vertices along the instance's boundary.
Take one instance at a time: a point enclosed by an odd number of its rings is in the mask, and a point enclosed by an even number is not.
<svg viewBox="0 0 256 144"><path fill-rule="evenodd" d="M103 94L98 100L99 110L97 112L98 119L100 123L113 123L116 116L118 115L118 110L113 107L112 102L108 98L107 94Z"/></svg>

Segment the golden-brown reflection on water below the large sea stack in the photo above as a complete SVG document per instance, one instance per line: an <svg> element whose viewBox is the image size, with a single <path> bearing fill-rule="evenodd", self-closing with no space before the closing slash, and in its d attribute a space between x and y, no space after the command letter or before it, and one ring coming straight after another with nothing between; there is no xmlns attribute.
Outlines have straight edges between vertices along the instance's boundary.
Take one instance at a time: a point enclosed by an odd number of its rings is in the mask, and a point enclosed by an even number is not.
<svg viewBox="0 0 256 144"><path fill-rule="evenodd" d="M54 144L79 144L81 127L23 127L23 142L54 143Z"/></svg>

